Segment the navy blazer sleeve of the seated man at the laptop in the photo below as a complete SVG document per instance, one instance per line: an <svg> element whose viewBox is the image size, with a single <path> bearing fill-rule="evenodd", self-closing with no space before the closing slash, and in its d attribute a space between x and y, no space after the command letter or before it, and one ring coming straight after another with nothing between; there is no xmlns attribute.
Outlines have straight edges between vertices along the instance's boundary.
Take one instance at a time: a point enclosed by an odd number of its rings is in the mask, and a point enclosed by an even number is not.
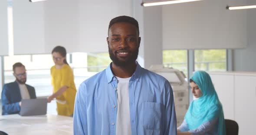
<svg viewBox="0 0 256 135"><path fill-rule="evenodd" d="M10 96L7 91L8 91L8 88L6 85L4 85L2 95L1 95L2 115L20 112L19 102L10 103Z"/></svg>

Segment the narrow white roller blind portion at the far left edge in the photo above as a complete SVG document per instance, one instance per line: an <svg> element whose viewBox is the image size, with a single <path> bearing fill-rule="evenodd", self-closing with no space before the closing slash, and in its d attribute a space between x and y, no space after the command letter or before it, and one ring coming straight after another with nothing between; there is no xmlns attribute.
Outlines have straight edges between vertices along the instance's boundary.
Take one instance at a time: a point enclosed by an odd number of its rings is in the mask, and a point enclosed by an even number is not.
<svg viewBox="0 0 256 135"><path fill-rule="evenodd" d="M7 0L0 0L0 55L8 55Z"/></svg>

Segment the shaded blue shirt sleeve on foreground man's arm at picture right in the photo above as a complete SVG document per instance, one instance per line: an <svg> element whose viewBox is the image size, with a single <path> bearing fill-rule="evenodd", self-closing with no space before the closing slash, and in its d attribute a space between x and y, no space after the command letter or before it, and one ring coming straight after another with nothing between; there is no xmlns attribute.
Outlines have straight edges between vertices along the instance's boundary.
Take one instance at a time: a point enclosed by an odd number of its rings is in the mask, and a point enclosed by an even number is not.
<svg viewBox="0 0 256 135"><path fill-rule="evenodd" d="M174 108L174 96L171 84L166 80L164 84L165 95L165 122L164 135L177 135L177 119Z"/></svg>

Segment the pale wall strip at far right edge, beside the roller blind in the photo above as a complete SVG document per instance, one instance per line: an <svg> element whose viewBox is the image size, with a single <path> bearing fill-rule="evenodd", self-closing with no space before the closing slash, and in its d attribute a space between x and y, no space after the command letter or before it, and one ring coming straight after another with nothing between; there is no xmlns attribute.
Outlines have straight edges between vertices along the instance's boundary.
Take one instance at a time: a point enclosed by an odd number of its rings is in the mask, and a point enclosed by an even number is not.
<svg viewBox="0 0 256 135"><path fill-rule="evenodd" d="M256 5L256 0L247 0ZM247 10L247 46L233 51L234 71L256 71L256 9Z"/></svg>

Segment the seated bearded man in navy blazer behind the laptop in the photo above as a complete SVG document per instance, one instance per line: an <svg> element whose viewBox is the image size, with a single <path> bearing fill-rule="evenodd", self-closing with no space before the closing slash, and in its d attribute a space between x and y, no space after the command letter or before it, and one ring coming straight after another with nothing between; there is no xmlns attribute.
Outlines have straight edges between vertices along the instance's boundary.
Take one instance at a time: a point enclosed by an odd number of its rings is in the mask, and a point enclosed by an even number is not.
<svg viewBox="0 0 256 135"><path fill-rule="evenodd" d="M20 113L22 99L34 99L36 93L34 87L26 83L25 66L17 62L13 64L13 76L16 80L3 85L1 95L2 115Z"/></svg>

